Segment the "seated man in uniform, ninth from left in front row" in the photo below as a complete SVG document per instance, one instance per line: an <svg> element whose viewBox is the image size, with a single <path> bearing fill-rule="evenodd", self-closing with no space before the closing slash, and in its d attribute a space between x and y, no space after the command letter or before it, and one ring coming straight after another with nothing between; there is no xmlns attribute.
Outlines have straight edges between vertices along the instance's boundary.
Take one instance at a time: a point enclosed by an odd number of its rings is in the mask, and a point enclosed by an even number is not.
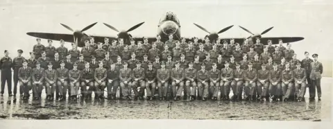
<svg viewBox="0 0 333 129"><path fill-rule="evenodd" d="M111 72L114 73L114 72ZM132 80L132 69L128 69L128 63L123 62L123 69L119 70L119 80L122 94L125 98L130 100L130 80Z"/></svg>

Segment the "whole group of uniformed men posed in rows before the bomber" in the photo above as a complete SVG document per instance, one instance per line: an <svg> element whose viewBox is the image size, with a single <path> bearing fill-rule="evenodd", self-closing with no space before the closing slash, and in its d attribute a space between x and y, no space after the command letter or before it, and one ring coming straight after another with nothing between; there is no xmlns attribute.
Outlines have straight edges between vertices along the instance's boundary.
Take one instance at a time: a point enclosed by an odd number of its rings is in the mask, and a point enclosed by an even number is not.
<svg viewBox="0 0 333 129"><path fill-rule="evenodd" d="M297 59L296 53L287 48L279 40L273 46L268 40L264 46L260 39L253 44L244 40L240 45L233 39L228 41L208 38L203 43L194 37L191 41L182 38L173 40L170 35L167 42L148 43L130 40L130 45L123 44L123 39L95 43L94 38L85 40L85 46L79 51L76 44L67 49L63 40L55 48L52 40L44 46L37 38L30 58L18 56L13 60L5 51L0 60L1 95L5 83L8 84L9 96L16 96L19 83L19 95L27 100L33 90L33 100L41 98L45 87L46 99L64 101L67 96L76 101L78 90L85 99L120 98L144 99L146 89L147 100L158 98L165 100L170 93L175 101L184 98L191 101L199 100L259 100L259 101L304 101L306 88L309 87L309 99L314 100L316 89L318 100L321 99L321 74L323 65L318 54L309 58L305 51L305 59ZM12 70L14 71L14 89L12 94ZM169 88L171 87L171 88ZM170 89L170 90L169 90ZM230 96L232 89L233 96ZM198 94L196 94L198 90ZM218 93L221 97L218 98ZM243 94L244 93L244 94Z"/></svg>

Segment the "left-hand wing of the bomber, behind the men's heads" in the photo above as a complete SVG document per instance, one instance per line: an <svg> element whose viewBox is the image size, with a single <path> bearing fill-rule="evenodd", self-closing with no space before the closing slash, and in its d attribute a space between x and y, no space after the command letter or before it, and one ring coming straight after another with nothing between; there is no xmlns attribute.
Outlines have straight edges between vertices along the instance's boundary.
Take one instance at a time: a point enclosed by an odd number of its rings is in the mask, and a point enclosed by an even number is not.
<svg viewBox="0 0 333 129"><path fill-rule="evenodd" d="M33 37L40 37L42 39L50 39L50 40L64 40L65 42L74 42L74 37L72 34L62 34L62 33L35 33L29 32L27 35ZM89 35L90 37L94 37L95 42L103 42L104 37L108 37L110 41L117 40L117 37L103 36L103 35Z"/></svg>

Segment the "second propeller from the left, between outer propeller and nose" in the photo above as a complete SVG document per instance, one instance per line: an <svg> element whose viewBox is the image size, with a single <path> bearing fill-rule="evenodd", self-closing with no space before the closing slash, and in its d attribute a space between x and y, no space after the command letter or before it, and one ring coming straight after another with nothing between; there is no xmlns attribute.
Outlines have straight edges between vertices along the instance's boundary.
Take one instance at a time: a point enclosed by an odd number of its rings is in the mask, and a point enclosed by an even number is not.
<svg viewBox="0 0 333 129"><path fill-rule="evenodd" d="M141 26L142 24L144 24L144 22L139 23L139 24L137 24L137 25L135 25L135 26L129 28L127 31L118 31L117 28L115 28L115 27L113 27L113 26L111 26L111 25L109 25L109 24L105 24L105 23L103 23L103 24L104 24L105 26L108 26L108 28L111 28L113 31L118 32L118 37L119 37L119 38L122 38L122 39L124 40L124 43L125 43L125 44L130 44L129 40L130 40L130 38L132 37L132 35L130 35L129 32L130 32L130 31L133 31L133 30L135 30L135 29L137 29L139 26Z"/></svg>

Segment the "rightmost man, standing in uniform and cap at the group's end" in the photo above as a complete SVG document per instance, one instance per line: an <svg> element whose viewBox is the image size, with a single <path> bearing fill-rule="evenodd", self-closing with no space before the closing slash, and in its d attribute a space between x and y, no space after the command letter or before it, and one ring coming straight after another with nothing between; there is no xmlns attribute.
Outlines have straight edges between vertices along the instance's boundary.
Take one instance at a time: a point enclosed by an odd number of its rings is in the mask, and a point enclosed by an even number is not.
<svg viewBox="0 0 333 129"><path fill-rule="evenodd" d="M314 100L316 97L316 89L318 94L318 101L321 101L321 74L323 74L323 64L318 61L318 54L312 55L314 62L311 62L310 79L312 85L309 87L310 100Z"/></svg>

